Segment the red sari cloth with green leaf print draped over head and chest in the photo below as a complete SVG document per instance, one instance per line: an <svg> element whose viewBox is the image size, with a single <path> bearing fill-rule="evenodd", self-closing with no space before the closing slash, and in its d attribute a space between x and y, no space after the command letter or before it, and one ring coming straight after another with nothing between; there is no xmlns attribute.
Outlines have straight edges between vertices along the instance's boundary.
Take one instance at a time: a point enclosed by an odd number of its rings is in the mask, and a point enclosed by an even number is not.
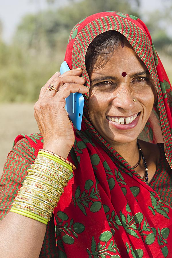
<svg viewBox="0 0 172 258"><path fill-rule="evenodd" d="M90 42L108 30L126 37L153 78L158 108L140 138L164 141L172 166L171 86L140 19L119 12L83 19L71 31L65 60L70 69L82 68L89 87L85 54ZM77 169L54 210L59 257L172 257L171 206L98 134L89 121L88 97L85 94L81 131L75 130L69 155Z"/></svg>

